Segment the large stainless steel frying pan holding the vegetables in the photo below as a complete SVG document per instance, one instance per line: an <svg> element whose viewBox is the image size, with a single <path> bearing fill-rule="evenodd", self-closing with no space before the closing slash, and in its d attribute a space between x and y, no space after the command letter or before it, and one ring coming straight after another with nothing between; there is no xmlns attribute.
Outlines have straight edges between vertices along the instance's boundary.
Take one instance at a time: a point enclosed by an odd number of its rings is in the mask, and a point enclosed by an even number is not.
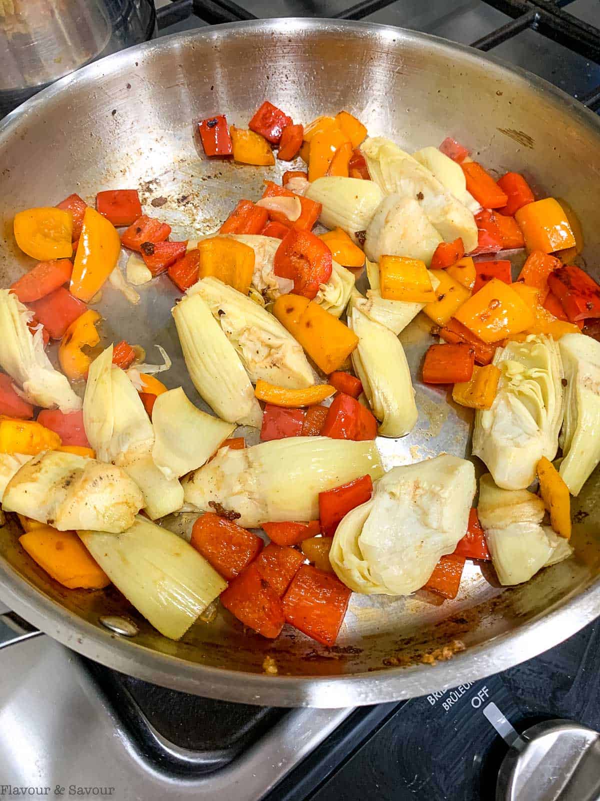
<svg viewBox="0 0 600 801"><path fill-rule="evenodd" d="M56 203L72 191L91 201L99 189L141 187L147 211L153 213L154 199L160 207L154 214L173 225L176 238L214 230L239 197L258 196L266 173L277 179L288 165L263 171L209 161L195 142L194 120L226 112L231 122L246 125L266 98L305 121L346 108L371 134L390 135L409 151L452 135L486 165L523 171L540 191L560 195L578 211L584 258L598 277L600 124L594 115L533 75L441 39L362 23L287 19L218 26L134 47L14 111L0 127L0 283L6 286L30 266L14 245L14 212ZM149 350L153 342L162 344L176 362L167 383L182 383L198 400L170 319L174 297L164 280L142 288L134 309L109 291L101 308L119 338ZM402 332L420 417L409 437L379 441L388 466L442 450L468 453L466 410L418 383L428 330L415 320ZM354 595L338 646L330 650L292 630L267 641L244 632L225 611L211 625L195 625L182 642L171 642L115 590L87 593L50 581L23 553L12 521L0 529L0 596L74 650L178 690L278 706L388 701L502 670L600 614L598 497L596 474L574 501L574 559L510 590L499 588L485 566L470 565L460 596L442 606L419 597ZM139 634L110 633L99 622L104 614L126 614ZM456 641L466 650L444 659ZM423 664L430 654L436 664ZM276 660L278 675L263 672L267 655Z"/></svg>

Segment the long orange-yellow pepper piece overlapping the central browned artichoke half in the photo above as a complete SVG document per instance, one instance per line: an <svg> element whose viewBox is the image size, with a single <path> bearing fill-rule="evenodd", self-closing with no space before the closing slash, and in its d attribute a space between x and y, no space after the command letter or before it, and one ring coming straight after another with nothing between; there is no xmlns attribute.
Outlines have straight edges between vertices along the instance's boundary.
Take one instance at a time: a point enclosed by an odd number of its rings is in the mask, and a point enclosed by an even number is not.
<svg viewBox="0 0 600 801"><path fill-rule="evenodd" d="M282 295L273 313L327 375L339 370L358 345L354 331L308 298Z"/></svg>

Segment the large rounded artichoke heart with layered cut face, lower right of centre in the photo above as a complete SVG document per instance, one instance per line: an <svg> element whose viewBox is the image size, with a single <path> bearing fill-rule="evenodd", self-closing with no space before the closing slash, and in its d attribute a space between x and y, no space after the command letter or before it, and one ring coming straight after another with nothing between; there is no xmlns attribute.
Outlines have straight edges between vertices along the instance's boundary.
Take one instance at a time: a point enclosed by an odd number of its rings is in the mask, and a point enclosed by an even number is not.
<svg viewBox="0 0 600 801"><path fill-rule="evenodd" d="M338 578L363 594L418 590L464 536L475 489L466 459L443 454L394 467L339 523L330 550Z"/></svg>

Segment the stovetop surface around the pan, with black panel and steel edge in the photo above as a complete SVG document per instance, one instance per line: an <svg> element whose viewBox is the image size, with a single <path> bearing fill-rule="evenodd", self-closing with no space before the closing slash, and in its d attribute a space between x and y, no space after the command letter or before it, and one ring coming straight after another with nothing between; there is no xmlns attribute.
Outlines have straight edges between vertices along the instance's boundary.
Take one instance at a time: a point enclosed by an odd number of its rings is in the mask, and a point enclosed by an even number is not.
<svg viewBox="0 0 600 801"><path fill-rule="evenodd" d="M157 0L156 6L160 35L286 16L414 28L489 50L600 108L598 0ZM0 621L2 801L32 795L476 801L494 798L500 763L531 723L573 718L600 728L597 624L482 682L357 710L277 710L195 698L95 666L24 631L27 642L2 648L9 633ZM594 732L586 742L592 753ZM514 770L503 781L498 798L534 801L514 791ZM554 790L544 799L558 799ZM578 794L560 798L600 798L595 792L579 785Z"/></svg>

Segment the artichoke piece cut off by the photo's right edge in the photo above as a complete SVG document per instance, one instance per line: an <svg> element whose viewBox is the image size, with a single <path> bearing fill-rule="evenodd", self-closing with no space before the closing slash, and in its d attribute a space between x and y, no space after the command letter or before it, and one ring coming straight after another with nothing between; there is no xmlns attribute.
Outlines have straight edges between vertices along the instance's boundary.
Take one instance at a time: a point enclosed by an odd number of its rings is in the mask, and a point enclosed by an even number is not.
<svg viewBox="0 0 600 801"><path fill-rule="evenodd" d="M600 461L600 343L566 334L558 348L566 380L560 474L571 495L578 495Z"/></svg>

